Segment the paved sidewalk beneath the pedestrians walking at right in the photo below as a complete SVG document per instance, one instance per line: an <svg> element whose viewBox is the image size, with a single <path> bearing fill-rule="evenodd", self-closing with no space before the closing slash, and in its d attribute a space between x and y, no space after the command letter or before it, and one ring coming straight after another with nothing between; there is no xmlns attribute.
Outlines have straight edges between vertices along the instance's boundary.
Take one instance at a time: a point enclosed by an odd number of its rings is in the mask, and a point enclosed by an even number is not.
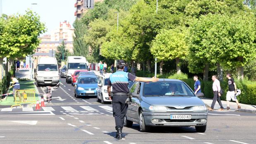
<svg viewBox="0 0 256 144"><path fill-rule="evenodd" d="M211 107L211 104L213 102L213 99L209 98L201 98L203 102L206 104L207 107ZM224 109L227 108L227 101L221 101ZM241 109L237 109L237 103L236 102L230 102L230 110L229 111L240 111L240 112L249 112L249 113L256 113L256 106L249 105L249 104L240 104ZM220 109L220 105L218 102L215 103L214 106L215 109Z"/></svg>

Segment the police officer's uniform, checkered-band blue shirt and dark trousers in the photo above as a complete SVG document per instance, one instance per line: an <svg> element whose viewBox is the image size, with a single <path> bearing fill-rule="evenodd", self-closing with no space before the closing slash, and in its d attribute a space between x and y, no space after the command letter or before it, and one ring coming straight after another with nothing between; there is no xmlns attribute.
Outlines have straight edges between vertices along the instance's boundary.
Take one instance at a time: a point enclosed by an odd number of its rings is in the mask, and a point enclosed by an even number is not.
<svg viewBox="0 0 256 144"><path fill-rule="evenodd" d="M135 79L136 76L122 70L112 73L108 79L108 86L112 86L113 92L112 107L113 116L115 117L115 129L123 127L124 116L128 108L128 104L126 104L125 101L127 99L127 94L129 93L129 80L134 82Z"/></svg>

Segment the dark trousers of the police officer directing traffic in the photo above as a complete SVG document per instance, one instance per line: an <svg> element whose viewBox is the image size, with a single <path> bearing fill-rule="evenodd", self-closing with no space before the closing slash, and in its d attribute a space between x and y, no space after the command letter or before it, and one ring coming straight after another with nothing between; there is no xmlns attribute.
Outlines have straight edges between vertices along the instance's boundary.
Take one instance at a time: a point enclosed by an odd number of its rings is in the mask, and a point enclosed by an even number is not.
<svg viewBox="0 0 256 144"><path fill-rule="evenodd" d="M113 116L115 117L115 128L123 127L124 116L128 105L125 104L127 97L124 95L114 95L112 99Z"/></svg>

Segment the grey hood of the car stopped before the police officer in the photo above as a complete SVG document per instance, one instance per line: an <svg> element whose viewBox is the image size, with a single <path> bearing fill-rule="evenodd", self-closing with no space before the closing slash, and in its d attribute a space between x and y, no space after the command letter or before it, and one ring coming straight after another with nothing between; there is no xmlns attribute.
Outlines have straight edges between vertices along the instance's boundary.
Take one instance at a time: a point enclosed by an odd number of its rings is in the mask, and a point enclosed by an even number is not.
<svg viewBox="0 0 256 144"><path fill-rule="evenodd" d="M187 106L202 106L203 101L198 97L142 97L142 100L152 106L171 106L183 109ZM181 107L180 107L181 106Z"/></svg>

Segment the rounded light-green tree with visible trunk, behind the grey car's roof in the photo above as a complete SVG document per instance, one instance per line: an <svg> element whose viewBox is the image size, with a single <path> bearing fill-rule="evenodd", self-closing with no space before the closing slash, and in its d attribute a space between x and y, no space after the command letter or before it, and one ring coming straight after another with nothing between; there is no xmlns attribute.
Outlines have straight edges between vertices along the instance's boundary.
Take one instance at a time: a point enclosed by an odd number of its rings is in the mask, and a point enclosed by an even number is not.
<svg viewBox="0 0 256 144"><path fill-rule="evenodd" d="M177 73L181 73L179 60L185 59L188 54L188 47L185 41L186 31L181 28L163 30L156 35L153 41L151 52L158 60L176 60Z"/></svg>

